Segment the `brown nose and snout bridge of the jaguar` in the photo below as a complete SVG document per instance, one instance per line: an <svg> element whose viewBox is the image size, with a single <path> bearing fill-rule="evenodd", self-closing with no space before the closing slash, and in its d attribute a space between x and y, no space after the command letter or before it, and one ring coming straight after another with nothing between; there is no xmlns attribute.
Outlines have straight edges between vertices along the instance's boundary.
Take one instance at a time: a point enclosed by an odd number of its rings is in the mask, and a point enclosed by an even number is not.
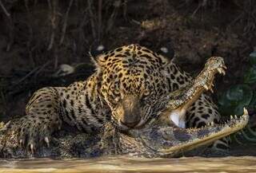
<svg viewBox="0 0 256 173"><path fill-rule="evenodd" d="M122 100L122 109L120 123L128 128L134 128L141 120L138 98L136 96L126 96Z"/></svg>

